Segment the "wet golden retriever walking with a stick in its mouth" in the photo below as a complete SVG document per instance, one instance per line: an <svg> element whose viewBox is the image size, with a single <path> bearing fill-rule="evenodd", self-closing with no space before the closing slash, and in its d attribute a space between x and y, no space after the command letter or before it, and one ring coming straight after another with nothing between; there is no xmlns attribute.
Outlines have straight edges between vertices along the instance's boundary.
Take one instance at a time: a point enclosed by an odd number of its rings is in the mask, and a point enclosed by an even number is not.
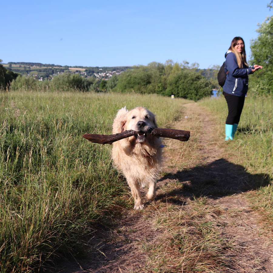
<svg viewBox="0 0 273 273"><path fill-rule="evenodd" d="M128 111L120 109L113 123L113 134L134 130L136 134L113 143L112 158L115 167L126 177L135 201L135 210L143 209L139 187L149 187L146 197L156 197L156 182L162 161L162 143L147 134L157 127L155 115L143 107Z"/></svg>

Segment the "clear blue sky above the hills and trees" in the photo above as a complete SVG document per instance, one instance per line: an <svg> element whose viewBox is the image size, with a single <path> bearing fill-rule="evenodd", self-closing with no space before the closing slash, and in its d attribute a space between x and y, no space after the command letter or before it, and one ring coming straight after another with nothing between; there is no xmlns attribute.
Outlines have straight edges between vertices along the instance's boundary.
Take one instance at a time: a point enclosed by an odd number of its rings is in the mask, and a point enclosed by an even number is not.
<svg viewBox="0 0 273 273"><path fill-rule="evenodd" d="M222 65L235 36L247 57L270 0L0 1L0 59L68 66L187 60ZM4 25L4 27L3 27Z"/></svg>

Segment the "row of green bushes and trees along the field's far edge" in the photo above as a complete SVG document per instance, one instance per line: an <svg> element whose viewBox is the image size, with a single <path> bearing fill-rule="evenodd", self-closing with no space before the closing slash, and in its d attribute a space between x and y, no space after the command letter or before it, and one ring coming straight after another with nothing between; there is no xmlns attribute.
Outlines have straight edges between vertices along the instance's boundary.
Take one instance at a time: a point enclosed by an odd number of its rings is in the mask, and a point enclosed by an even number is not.
<svg viewBox="0 0 273 273"><path fill-rule="evenodd" d="M9 71L9 70L7 70ZM198 69L198 64L189 66L168 60L165 64L152 62L147 66L134 66L119 75L113 74L109 80L98 81L95 77L63 73L52 80L38 81L33 77L17 76L9 88L20 90L95 91L95 92L135 92L157 93L163 96L181 97L197 101L210 96L213 84Z"/></svg>

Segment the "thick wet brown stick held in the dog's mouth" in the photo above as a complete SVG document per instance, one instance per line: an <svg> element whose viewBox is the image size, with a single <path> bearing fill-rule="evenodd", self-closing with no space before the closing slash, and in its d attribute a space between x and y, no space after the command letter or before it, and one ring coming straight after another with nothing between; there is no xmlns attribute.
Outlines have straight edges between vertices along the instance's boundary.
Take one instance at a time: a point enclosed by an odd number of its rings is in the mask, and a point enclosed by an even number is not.
<svg viewBox="0 0 273 273"><path fill-rule="evenodd" d="M137 134L136 131L128 130L128 131L113 134L113 135L85 134L83 135L83 137L94 143L112 144L115 141L121 140L129 136L133 136L136 134ZM151 134L153 136L158 136L158 137L167 137L167 138L177 139L180 141L187 141L190 138L189 131L176 130L176 129L154 128L151 131L147 132L147 134Z"/></svg>

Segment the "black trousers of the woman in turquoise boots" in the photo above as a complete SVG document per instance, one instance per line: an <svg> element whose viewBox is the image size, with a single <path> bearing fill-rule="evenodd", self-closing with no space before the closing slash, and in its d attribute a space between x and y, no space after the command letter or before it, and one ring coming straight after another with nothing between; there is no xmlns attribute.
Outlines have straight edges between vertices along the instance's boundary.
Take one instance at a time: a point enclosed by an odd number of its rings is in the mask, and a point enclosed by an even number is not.
<svg viewBox="0 0 273 273"><path fill-rule="evenodd" d="M225 92L223 92L223 95L227 101L227 108L228 108L226 124L233 125L234 123L239 123L241 113L244 107L245 97L238 97L238 96L227 94Z"/></svg>

